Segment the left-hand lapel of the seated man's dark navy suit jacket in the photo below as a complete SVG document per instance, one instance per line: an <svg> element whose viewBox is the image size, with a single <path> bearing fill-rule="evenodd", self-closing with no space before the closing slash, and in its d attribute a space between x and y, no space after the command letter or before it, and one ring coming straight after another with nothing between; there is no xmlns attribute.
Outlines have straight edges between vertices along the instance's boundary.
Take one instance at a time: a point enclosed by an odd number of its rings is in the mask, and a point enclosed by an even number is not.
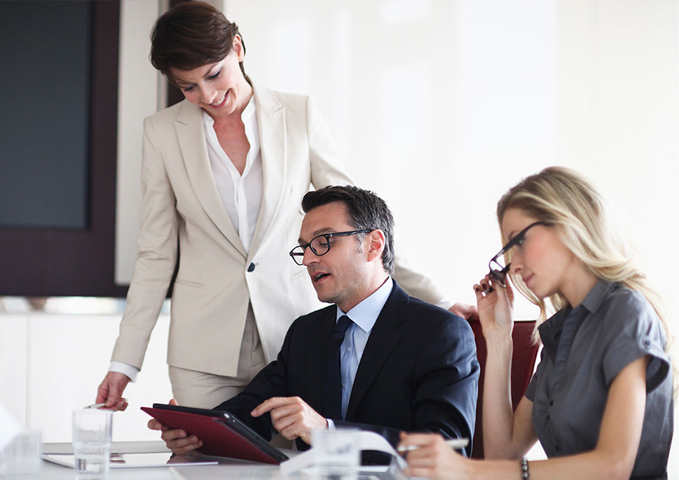
<svg viewBox="0 0 679 480"><path fill-rule="evenodd" d="M337 318L336 309L323 309L317 327L310 333L308 356L306 358L306 379L308 404L322 414L323 374L328 358L330 337Z"/></svg>

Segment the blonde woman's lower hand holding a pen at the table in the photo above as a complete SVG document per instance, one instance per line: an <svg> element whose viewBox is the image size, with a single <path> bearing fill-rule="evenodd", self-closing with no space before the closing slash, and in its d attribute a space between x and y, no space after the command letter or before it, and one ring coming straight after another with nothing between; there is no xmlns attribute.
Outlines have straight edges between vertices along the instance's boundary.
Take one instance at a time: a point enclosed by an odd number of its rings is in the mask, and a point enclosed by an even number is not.
<svg viewBox="0 0 679 480"><path fill-rule="evenodd" d="M418 446L406 453L409 477L426 477L433 480L458 480L471 477L469 460L455 453L443 437L432 433L401 433L399 446Z"/></svg>

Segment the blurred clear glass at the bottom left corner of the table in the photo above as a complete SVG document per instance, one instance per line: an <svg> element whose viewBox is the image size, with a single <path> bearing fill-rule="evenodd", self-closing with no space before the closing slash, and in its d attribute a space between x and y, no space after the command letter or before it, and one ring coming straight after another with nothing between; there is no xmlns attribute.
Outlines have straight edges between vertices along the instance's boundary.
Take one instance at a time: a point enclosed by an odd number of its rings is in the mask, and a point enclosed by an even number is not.
<svg viewBox="0 0 679 480"><path fill-rule="evenodd" d="M29 480L40 473L42 465L39 431L21 432L0 451L0 479Z"/></svg>

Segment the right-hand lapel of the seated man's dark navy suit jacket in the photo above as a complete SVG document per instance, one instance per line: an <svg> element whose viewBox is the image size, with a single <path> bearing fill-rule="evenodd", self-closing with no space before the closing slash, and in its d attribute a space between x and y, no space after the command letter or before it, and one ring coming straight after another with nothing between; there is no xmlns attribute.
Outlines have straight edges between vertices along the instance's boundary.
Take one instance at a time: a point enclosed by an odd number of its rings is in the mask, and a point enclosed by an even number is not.
<svg viewBox="0 0 679 480"><path fill-rule="evenodd" d="M406 320L404 312L407 303L408 295L394 282L394 288L375 322L363 351L349 397L346 420L351 421L354 418L363 395L383 368L387 357L401 341L402 335L396 328Z"/></svg>

